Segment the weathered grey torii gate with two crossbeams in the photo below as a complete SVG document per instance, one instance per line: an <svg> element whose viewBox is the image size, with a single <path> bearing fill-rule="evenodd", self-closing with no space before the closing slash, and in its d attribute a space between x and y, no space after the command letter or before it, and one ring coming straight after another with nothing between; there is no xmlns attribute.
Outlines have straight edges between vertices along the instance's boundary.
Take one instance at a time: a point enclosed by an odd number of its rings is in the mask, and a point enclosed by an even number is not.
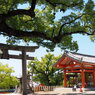
<svg viewBox="0 0 95 95"><path fill-rule="evenodd" d="M38 46L14 46L14 45L6 45L0 43L0 50L2 54L0 54L0 59L22 59L22 95L27 95L27 68L26 68L26 60L33 60L34 57L29 57L26 55L26 52L35 52L35 49L39 48ZM10 55L8 53L9 50L21 51L20 55Z"/></svg>

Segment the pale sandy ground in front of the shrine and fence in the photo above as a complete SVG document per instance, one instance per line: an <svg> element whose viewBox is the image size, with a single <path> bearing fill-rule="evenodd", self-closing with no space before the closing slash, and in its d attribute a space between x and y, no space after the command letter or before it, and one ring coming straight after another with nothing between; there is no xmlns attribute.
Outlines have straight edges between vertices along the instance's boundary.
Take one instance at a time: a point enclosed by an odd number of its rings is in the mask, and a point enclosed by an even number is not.
<svg viewBox="0 0 95 95"><path fill-rule="evenodd" d="M21 95L21 94L0 94L0 95ZM28 95L95 95L95 91L84 91L80 92L80 90L72 91L70 89L63 90L61 88L55 89L54 91L40 91L35 92L34 94L28 94Z"/></svg>

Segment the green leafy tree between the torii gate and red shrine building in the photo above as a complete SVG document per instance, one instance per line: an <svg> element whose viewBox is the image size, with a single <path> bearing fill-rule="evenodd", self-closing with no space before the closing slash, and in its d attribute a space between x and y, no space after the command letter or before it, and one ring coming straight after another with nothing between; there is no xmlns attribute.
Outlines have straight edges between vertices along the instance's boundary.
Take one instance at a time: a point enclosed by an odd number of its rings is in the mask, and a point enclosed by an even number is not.
<svg viewBox="0 0 95 95"><path fill-rule="evenodd" d="M34 74L33 81L40 82L45 85L62 85L63 72L62 70L53 67L53 64L58 61L61 56L55 57L48 53L41 60L35 58L28 64L29 72Z"/></svg>

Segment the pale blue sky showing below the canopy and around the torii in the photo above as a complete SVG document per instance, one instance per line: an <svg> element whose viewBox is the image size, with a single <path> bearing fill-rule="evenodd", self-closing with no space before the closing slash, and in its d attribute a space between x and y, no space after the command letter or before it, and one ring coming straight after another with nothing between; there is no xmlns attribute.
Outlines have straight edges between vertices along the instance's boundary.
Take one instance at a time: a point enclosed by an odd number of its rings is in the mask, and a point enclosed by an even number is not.
<svg viewBox="0 0 95 95"><path fill-rule="evenodd" d="M20 7L25 7L21 6ZM78 42L79 50L78 53L82 54L88 54L88 55L94 55L95 56L95 42L91 42L89 36L86 35L80 35L80 34L74 34L73 39ZM0 43L5 43L5 39L0 36ZM10 53L16 53L19 54L19 52L10 52ZM52 52L55 56L58 56L60 54L63 54L64 51L60 50L59 48L55 48L54 52ZM42 56L47 54L46 48L39 47L34 53L29 53L30 56L37 57L40 59ZM13 67L13 70L15 71L13 73L14 76L21 77L22 76L22 61L17 59L0 59L0 62L3 64L8 64L9 67ZM27 61L28 64L28 61Z"/></svg>

